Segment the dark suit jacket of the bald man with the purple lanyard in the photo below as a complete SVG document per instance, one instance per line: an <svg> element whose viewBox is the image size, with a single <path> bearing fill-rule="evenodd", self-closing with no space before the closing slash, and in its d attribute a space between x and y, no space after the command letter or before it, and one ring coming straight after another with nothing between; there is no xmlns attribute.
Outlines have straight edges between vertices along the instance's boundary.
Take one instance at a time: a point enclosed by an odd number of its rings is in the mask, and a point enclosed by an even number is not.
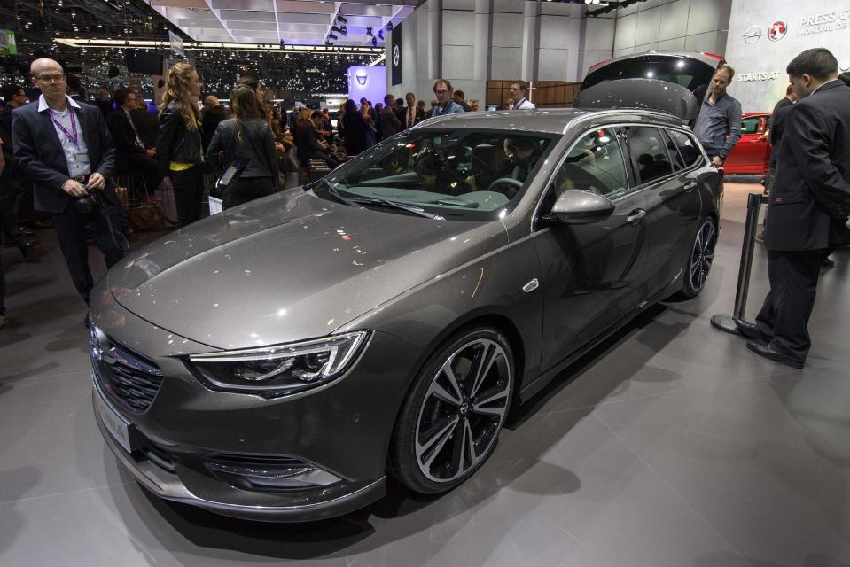
<svg viewBox="0 0 850 567"><path fill-rule="evenodd" d="M99 173L108 180L115 165L113 138L97 107L85 103L79 105L80 108L74 109L74 112L89 148L91 173ZM35 210L63 213L71 199L62 190L62 185L68 180L68 163L50 114L46 111L39 113L37 102L16 108L12 113L12 136L17 165L33 179Z"/></svg>

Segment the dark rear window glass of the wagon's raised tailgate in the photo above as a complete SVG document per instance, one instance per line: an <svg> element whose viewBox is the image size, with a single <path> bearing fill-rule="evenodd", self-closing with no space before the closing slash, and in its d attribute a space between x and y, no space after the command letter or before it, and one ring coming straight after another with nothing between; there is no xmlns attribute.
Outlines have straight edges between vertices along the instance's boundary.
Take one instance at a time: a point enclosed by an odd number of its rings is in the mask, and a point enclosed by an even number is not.
<svg viewBox="0 0 850 567"><path fill-rule="evenodd" d="M585 77L581 89L616 79L657 79L675 82L694 92L700 87L707 87L713 74L714 68L698 59L647 55L599 67Z"/></svg>

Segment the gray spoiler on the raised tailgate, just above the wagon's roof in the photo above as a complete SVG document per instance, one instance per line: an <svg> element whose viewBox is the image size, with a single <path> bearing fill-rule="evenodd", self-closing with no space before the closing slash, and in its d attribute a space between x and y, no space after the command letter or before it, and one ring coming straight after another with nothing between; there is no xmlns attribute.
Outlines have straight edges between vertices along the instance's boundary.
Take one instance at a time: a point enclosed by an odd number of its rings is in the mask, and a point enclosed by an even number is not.
<svg viewBox="0 0 850 567"><path fill-rule="evenodd" d="M618 79L584 89L573 108L639 108L672 114L682 123L697 120L699 101L690 90L657 79Z"/></svg>

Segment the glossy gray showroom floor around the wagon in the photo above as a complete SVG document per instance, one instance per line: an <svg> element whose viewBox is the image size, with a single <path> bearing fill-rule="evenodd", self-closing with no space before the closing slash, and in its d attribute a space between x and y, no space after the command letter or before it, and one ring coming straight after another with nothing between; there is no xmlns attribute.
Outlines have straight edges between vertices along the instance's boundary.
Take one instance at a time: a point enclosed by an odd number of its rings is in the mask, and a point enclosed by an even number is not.
<svg viewBox="0 0 850 567"><path fill-rule="evenodd" d="M850 565L850 255L823 273L807 369L713 330L749 190L727 185L703 295L651 309L520 408L470 482L300 525L167 504L119 469L92 416L82 302L44 235L40 264L9 266L0 330L0 565ZM760 249L754 263L751 313Z"/></svg>

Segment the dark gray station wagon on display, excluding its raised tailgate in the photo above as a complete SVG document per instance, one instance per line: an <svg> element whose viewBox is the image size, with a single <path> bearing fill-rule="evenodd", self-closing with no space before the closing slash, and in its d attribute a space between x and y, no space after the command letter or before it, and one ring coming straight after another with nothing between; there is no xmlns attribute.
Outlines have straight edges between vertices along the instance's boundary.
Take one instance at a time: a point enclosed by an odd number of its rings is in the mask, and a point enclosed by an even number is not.
<svg viewBox="0 0 850 567"><path fill-rule="evenodd" d="M448 491L512 407L659 299L696 296L721 173L682 120L425 120L324 179L135 252L92 292L97 423L161 498L344 514Z"/></svg>

